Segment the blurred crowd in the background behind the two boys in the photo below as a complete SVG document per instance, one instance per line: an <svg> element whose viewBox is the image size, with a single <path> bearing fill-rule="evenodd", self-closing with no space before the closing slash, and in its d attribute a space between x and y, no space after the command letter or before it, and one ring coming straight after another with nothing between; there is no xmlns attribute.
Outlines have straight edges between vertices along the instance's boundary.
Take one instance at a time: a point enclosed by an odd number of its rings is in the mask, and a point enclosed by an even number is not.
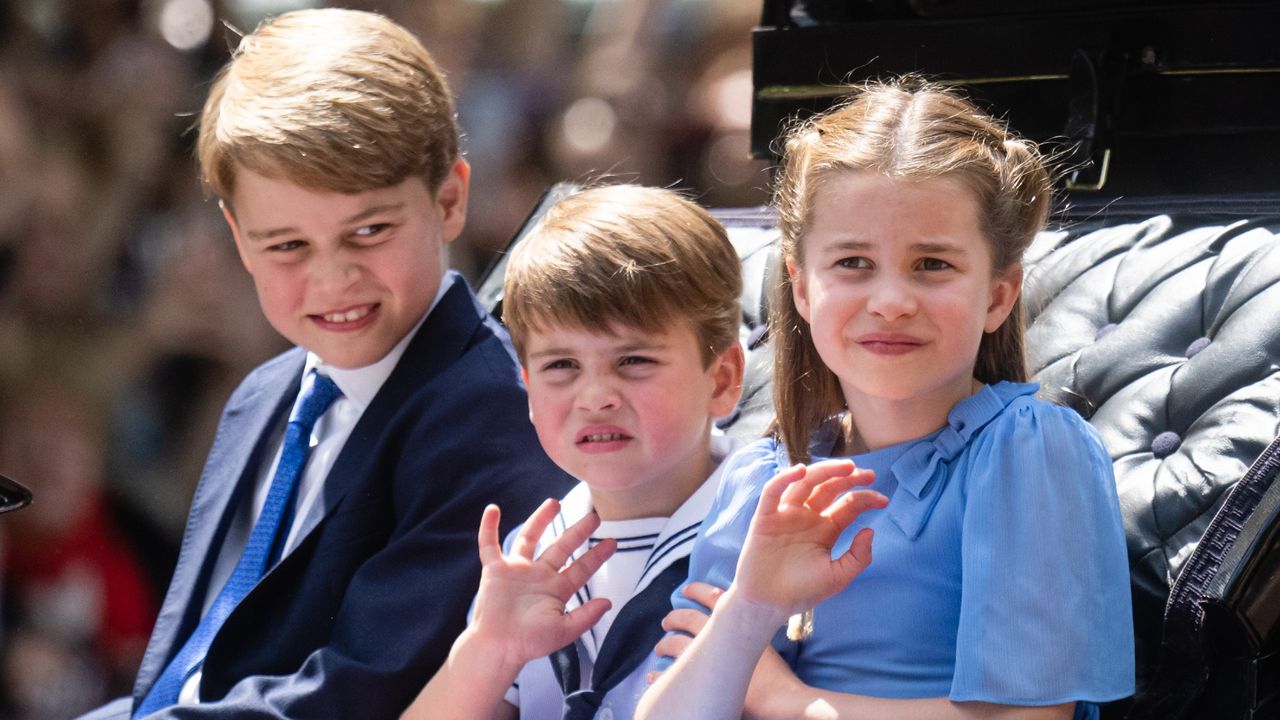
<svg viewBox="0 0 1280 720"><path fill-rule="evenodd" d="M210 77L284 10L381 12L448 73L474 168L453 265L477 277L559 179L767 199L748 159L744 0L3 0L0 717L129 692L218 413L284 347L191 131Z"/></svg>

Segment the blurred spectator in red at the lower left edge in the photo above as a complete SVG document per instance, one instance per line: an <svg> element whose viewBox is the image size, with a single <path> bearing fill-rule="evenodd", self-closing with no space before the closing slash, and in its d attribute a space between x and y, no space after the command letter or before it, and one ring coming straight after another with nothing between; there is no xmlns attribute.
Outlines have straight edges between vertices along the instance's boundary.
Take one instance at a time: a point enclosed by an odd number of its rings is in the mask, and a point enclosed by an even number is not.
<svg viewBox="0 0 1280 720"><path fill-rule="evenodd" d="M104 487L105 411L67 377L28 377L0 405L0 468L37 500L5 518L0 697L19 719L61 719L128 692L156 594Z"/></svg>

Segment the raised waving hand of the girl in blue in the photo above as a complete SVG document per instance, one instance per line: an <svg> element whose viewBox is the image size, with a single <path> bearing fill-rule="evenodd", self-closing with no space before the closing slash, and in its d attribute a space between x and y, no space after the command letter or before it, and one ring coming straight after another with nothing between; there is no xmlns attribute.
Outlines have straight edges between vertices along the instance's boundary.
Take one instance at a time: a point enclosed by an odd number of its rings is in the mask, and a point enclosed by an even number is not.
<svg viewBox="0 0 1280 720"><path fill-rule="evenodd" d="M831 548L860 514L888 505L876 491L851 491L876 479L849 460L795 465L764 484L733 580L735 594L772 606L783 616L842 591L872 561L872 530L861 529L847 552Z"/></svg>

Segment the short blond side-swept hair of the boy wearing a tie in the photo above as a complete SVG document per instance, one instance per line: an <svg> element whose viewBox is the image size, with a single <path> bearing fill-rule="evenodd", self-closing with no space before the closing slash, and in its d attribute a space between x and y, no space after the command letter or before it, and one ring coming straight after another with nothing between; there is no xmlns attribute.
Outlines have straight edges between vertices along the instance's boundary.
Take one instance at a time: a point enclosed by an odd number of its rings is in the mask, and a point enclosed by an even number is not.
<svg viewBox="0 0 1280 720"><path fill-rule="evenodd" d="M375 13L298 10L241 40L200 120L201 178L224 201L236 172L362 192L421 177L434 192L458 155L453 97L430 54Z"/></svg>

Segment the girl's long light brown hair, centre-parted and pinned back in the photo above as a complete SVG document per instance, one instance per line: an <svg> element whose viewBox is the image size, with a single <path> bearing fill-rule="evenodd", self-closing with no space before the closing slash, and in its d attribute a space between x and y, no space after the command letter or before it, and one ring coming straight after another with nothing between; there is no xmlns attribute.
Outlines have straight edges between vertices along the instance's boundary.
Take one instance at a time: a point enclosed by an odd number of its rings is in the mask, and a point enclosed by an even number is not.
<svg viewBox="0 0 1280 720"><path fill-rule="evenodd" d="M1038 149L1005 123L955 91L918 78L872 83L788 133L774 197L783 260L804 264L814 196L826 178L844 172L960 181L977 201L997 274L1021 261L1052 202ZM841 413L845 398L835 373L818 356L785 272L773 286L771 307L774 429L792 461L806 462L814 428ZM1027 379L1023 324L1019 299L1004 324L983 336L974 366L978 380Z"/></svg>

